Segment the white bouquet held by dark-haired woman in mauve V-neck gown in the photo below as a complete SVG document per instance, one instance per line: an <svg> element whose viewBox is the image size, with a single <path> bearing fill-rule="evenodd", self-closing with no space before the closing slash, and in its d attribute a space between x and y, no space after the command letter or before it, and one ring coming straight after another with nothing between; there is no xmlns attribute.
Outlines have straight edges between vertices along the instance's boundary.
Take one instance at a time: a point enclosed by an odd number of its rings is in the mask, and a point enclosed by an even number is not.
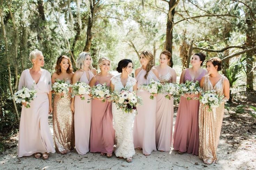
<svg viewBox="0 0 256 170"><path fill-rule="evenodd" d="M179 94L199 94L202 92L202 88L200 87L199 81L193 82L187 80L185 83L181 83ZM191 100L191 97L187 97L187 100Z"/></svg>

